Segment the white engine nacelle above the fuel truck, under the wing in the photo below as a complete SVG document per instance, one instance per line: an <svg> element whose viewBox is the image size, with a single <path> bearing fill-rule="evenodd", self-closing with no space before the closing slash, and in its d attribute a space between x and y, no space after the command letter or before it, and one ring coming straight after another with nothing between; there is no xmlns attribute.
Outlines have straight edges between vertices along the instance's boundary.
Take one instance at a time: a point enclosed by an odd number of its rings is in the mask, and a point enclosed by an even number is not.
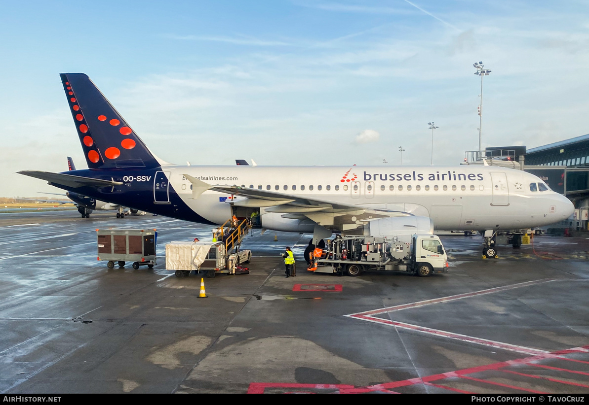
<svg viewBox="0 0 589 405"><path fill-rule="evenodd" d="M396 237L399 241L410 242L415 233L434 235L434 221L427 216L397 216L370 220L363 226L364 235Z"/></svg>

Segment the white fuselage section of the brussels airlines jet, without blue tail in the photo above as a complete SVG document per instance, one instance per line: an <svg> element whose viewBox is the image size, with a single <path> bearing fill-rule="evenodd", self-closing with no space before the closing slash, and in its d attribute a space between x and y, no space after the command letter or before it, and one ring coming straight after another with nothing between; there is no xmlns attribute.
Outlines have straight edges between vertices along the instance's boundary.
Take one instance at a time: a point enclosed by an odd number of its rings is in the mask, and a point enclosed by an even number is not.
<svg viewBox="0 0 589 405"><path fill-rule="evenodd" d="M428 216L435 229L525 229L567 219L564 196L538 189L541 179L497 166L163 166L178 196L213 223L231 216L227 194L193 198L190 175L210 185L237 185L330 202ZM530 187L531 183L536 186ZM308 219L260 208L266 229L311 232ZM311 231L310 231L311 230Z"/></svg>

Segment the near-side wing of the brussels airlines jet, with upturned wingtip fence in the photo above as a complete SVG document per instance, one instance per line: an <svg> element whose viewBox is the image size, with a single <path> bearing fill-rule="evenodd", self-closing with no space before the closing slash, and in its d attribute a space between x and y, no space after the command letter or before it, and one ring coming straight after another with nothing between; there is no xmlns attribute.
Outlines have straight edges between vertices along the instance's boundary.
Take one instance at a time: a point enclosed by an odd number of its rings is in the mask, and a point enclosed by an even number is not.
<svg viewBox="0 0 589 405"><path fill-rule="evenodd" d="M266 207L266 212L277 212L288 215L305 215L310 219L316 217L313 213L327 213L333 215L362 215L363 213L375 213L377 216L411 216L411 213L365 207L355 204L346 204L329 200L300 197L288 193L279 193L269 190L258 190L240 186L213 186L192 176L184 175L193 183L193 198L198 198L206 190L233 194L244 197L237 200L235 206ZM293 217L293 216L285 216Z"/></svg>

